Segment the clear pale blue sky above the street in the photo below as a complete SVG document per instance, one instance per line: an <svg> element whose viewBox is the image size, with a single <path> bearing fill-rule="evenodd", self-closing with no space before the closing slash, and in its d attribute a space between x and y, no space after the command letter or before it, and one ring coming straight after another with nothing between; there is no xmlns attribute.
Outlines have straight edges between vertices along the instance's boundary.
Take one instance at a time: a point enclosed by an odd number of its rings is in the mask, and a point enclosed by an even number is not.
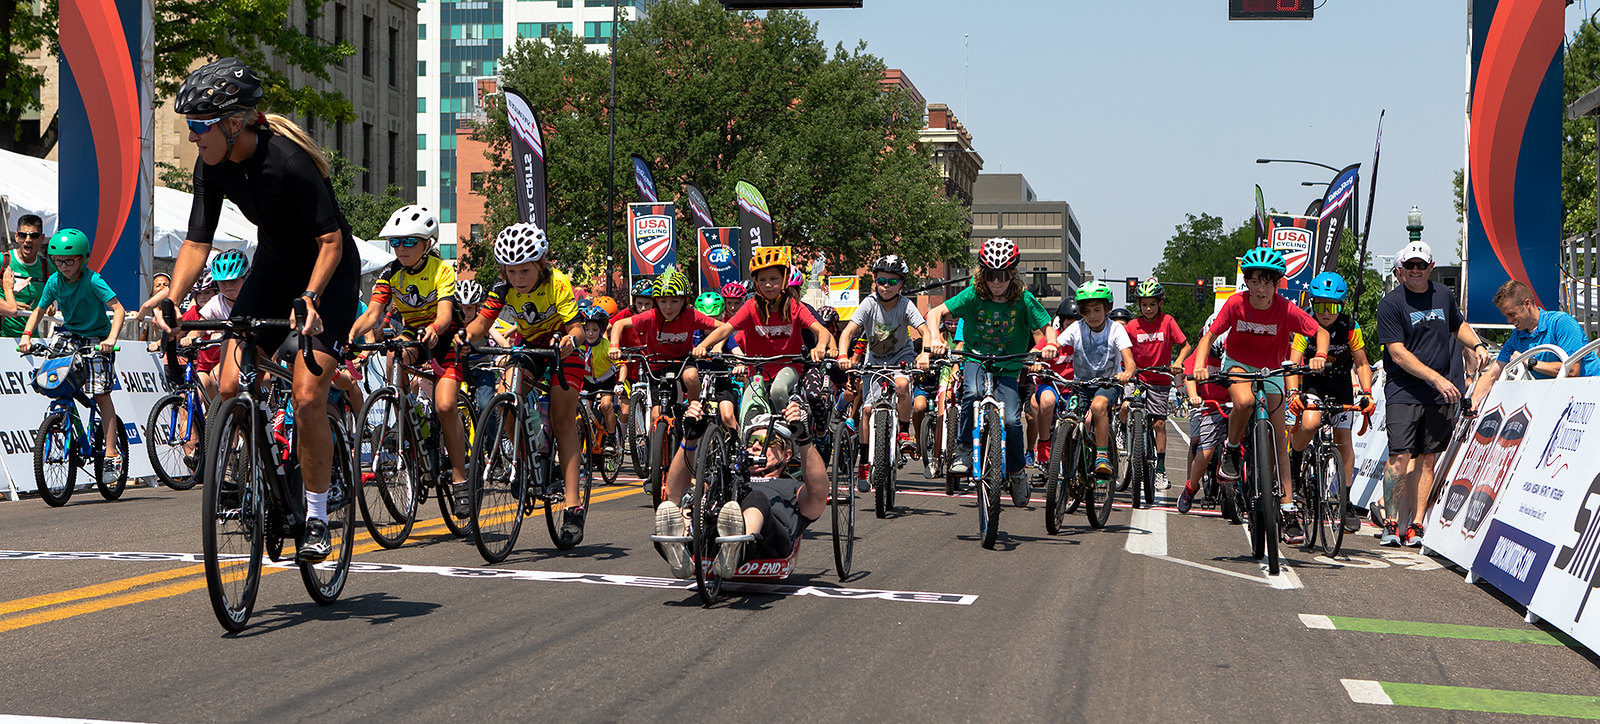
<svg viewBox="0 0 1600 724"><path fill-rule="evenodd" d="M1568 34L1584 18L1568 10ZM1258 157L1362 163L1366 215L1378 112L1387 109L1371 250L1405 242L1422 210L1454 258L1450 179L1464 165L1467 0L1326 0L1317 19L1229 21L1227 0L864 0L811 10L829 45L904 69L973 133L984 171L1022 173L1066 200L1094 274L1146 276L1186 213L1301 213L1333 173ZM970 35L963 101L962 34ZM965 109L965 111L963 111ZM1130 253L1131 251L1131 253Z"/></svg>

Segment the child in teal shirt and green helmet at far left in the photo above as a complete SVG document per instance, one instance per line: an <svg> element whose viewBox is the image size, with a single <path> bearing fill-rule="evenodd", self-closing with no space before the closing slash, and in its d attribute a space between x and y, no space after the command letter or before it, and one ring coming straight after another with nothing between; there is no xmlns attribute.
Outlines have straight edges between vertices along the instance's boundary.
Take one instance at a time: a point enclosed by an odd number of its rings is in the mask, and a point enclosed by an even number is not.
<svg viewBox="0 0 1600 724"><path fill-rule="evenodd" d="M88 344L98 348L99 354L86 359L88 381L83 386L83 394L94 397L94 405L99 407L101 429L106 431L106 468L101 471L101 482L109 484L122 476L123 466L122 453L117 448L117 429L122 426L115 423L117 408L110 402L112 362L117 359L112 348L117 344L117 335L122 333L122 303L117 301L117 295L99 274L86 269L90 237L83 235L82 231L61 229L54 232L50 243L45 245L45 253L50 255L50 264L56 267L56 272L50 276L45 290L38 293L38 304L34 304L34 311L27 316L18 349L24 352L32 349L34 328L38 327L38 319L51 304L61 312L61 330L51 340L51 348L62 352ZM107 309L112 311L110 319L106 317Z"/></svg>

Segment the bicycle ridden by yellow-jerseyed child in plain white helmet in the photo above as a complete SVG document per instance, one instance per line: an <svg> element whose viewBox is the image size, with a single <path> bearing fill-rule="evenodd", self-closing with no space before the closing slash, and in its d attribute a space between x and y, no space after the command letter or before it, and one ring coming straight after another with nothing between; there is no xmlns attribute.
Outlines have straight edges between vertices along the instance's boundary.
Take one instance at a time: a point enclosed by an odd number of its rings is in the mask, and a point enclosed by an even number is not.
<svg viewBox="0 0 1600 724"><path fill-rule="evenodd" d="M443 445L434 399L419 391L419 381L438 381L421 367L403 362L406 349L424 346L419 340L402 336L349 346L349 352L381 352L386 357L384 384L366 396L355 416L355 452L362 473L357 501L366 532L384 548L398 548L406 541L429 492L438 498L438 513L451 533L464 537L469 530L466 511L456 509L450 452ZM470 439L466 434L472 428L470 396L456 397L456 412L462 420L462 437Z"/></svg>

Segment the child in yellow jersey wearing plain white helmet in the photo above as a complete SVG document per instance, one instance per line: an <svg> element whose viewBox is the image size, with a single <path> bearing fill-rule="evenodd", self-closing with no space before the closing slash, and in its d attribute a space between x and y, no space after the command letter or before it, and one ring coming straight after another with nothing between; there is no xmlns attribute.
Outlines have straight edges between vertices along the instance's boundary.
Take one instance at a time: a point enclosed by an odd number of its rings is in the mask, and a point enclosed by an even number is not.
<svg viewBox="0 0 1600 724"><path fill-rule="evenodd" d="M400 207L378 235L389 240L395 261L378 274L366 312L350 325L350 341L378 328L392 306L405 327L400 336L422 343L421 349L406 349L402 357L406 365L422 362L434 365L438 383L421 381L421 386L424 394L432 394L434 412L438 415L440 428L445 429L456 517L467 517L470 513L467 444L461 408L456 407L462 370L451 335L456 324L456 267L446 264L434 250L438 240L438 219L426 207Z"/></svg>

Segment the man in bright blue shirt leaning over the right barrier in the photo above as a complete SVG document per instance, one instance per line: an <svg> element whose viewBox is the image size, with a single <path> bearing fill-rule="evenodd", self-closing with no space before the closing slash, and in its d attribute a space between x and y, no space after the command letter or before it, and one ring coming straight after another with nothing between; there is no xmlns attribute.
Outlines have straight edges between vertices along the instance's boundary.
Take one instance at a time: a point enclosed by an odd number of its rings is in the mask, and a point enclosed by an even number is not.
<svg viewBox="0 0 1600 724"><path fill-rule="evenodd" d="M1506 346L1501 348L1499 357L1478 381L1472 394L1474 408L1483 402L1483 397L1488 397L1490 388L1506 372L1506 365L1512 357L1539 344L1555 344L1566 354L1573 354L1578 348L1589 343L1589 336L1584 335L1582 327L1578 325L1578 320L1571 314L1539 309L1533 303L1533 290L1515 279L1502 284L1499 292L1494 293L1494 306L1499 308L1514 328L1510 338L1506 340ZM1536 359L1538 362L1531 368L1534 378L1552 378L1562 372L1562 364L1557 362L1555 354L1542 352ZM1600 376L1600 359L1595 357L1595 352L1571 360L1568 365L1571 367L1568 376Z"/></svg>

